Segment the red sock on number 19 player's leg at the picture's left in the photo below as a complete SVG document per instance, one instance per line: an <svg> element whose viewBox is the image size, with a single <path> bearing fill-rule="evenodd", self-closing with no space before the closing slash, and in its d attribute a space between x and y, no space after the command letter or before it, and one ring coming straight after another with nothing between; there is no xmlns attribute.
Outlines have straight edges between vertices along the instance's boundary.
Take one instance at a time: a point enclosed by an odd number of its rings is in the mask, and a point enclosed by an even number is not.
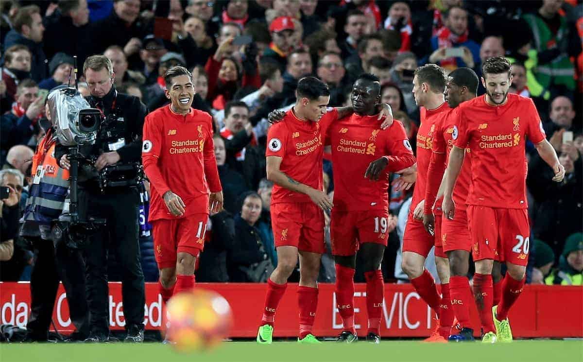
<svg viewBox="0 0 583 362"><path fill-rule="evenodd" d="M354 329L354 269L336 264L336 307L344 331L356 335Z"/></svg>

